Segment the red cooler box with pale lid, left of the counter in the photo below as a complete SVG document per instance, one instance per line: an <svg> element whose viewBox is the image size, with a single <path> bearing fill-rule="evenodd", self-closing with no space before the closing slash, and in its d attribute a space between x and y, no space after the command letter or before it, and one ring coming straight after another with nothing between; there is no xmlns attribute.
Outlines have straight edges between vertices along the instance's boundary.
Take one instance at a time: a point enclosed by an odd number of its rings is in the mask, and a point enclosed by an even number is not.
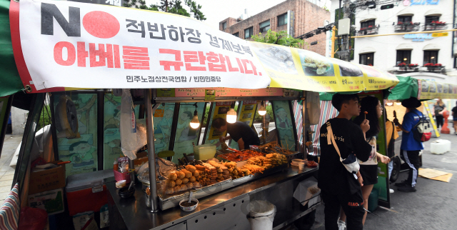
<svg viewBox="0 0 457 230"><path fill-rule="evenodd" d="M84 211L100 211L108 204L104 179L113 176L113 169L92 171L86 174L71 175L66 178L66 201L69 215Z"/></svg>

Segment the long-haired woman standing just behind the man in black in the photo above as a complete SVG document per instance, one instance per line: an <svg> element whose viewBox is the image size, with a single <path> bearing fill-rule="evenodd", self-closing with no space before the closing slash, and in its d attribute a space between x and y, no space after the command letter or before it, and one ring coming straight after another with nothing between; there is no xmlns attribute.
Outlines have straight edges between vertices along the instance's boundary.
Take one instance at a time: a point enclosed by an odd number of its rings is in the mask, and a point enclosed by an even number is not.
<svg viewBox="0 0 457 230"><path fill-rule="evenodd" d="M368 112L368 114L365 114ZM363 196L363 207L368 210L368 196L371 194L374 184L378 183L378 161L381 161L383 164L388 164L391 161L388 156L383 156L376 151L376 136L379 133L379 118L383 114L383 106L379 99L374 96L366 96L361 100L361 113L354 119L354 123L360 125L363 120L366 119L370 121L370 129L366 131L366 141L371 144L373 148L371 151L371 156L368 158L368 161L360 161L360 173L363 179L362 185L362 196ZM365 224L366 212L363 215L362 223ZM340 229L343 229L344 221L346 221L346 215L341 210L340 220L338 221L338 226Z"/></svg>

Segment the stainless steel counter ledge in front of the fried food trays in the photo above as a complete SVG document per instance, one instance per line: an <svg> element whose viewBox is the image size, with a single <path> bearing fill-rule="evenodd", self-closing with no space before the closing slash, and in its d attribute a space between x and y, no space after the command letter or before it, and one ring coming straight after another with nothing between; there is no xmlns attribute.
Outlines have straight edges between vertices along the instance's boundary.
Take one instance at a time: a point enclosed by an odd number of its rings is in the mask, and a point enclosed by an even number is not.
<svg viewBox="0 0 457 230"><path fill-rule="evenodd" d="M317 170L316 168L305 168L305 170L299 171L296 167L288 167L276 174L250 181L246 184L233 186L231 189L201 198L199 199L199 206L192 212L181 211L179 207L175 207L173 209L151 213L151 209L146 207L146 196L144 191L141 190L141 184L136 184L134 197L121 199L118 195L115 181L107 182L110 229L166 229L172 226L171 229L183 229L186 226L186 221L192 220L197 223L199 220L196 218L202 214L208 214L211 217L216 216L216 214L224 214L229 204L231 209L234 209L236 204L238 204L236 206L236 212L245 218L246 214L248 214L250 195L272 188L273 186L278 186L292 179L304 178ZM216 211L213 212L212 210ZM212 215L209 214L209 211L211 211ZM225 219L228 217L229 215L226 215ZM232 218L239 217L240 215ZM204 219L200 219L200 223L206 221L206 218L207 216L205 215ZM241 227L238 226L238 228Z"/></svg>

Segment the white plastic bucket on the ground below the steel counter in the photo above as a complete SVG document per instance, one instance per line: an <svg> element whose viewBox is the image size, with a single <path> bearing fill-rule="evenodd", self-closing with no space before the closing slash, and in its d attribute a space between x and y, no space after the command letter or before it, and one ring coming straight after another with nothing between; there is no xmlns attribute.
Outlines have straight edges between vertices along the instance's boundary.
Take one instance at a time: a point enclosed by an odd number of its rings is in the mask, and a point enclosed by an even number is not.
<svg viewBox="0 0 457 230"><path fill-rule="evenodd" d="M251 230L273 229L273 220L276 215L276 206L268 201L251 201L249 204L249 223Z"/></svg>

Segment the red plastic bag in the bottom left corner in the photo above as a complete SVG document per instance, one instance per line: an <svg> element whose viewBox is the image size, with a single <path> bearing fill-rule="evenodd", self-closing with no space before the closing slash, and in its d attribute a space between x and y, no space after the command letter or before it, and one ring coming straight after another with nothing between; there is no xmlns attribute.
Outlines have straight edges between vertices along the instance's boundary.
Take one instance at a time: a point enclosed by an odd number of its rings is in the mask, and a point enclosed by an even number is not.
<svg viewBox="0 0 457 230"><path fill-rule="evenodd" d="M25 206L21 209L19 230L43 230L48 221L48 213L43 209Z"/></svg>

